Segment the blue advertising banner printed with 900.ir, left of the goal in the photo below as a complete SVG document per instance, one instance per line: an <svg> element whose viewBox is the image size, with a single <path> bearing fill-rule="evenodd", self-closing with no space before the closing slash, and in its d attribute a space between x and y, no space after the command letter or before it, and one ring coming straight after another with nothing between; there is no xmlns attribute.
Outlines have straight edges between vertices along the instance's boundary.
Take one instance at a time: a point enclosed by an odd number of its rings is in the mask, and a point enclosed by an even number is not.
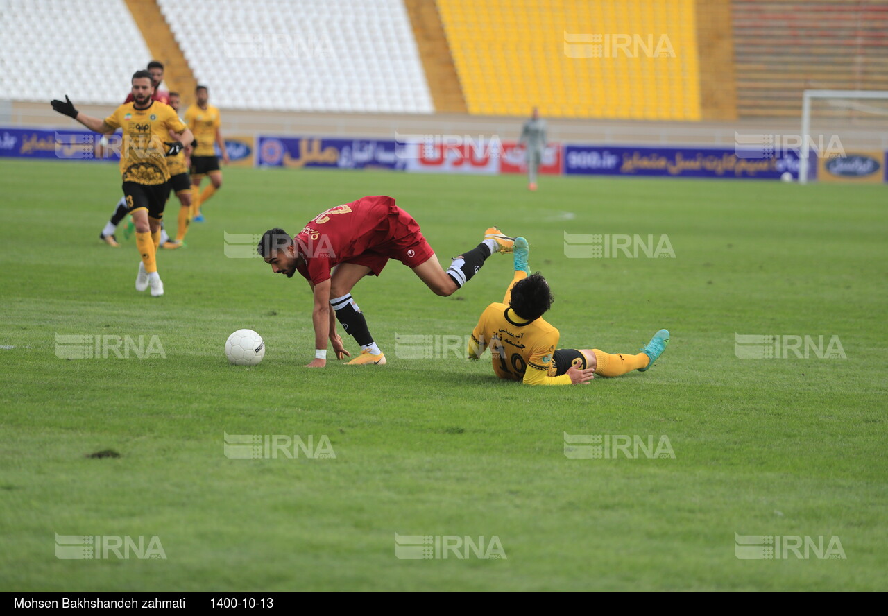
<svg viewBox="0 0 888 616"><path fill-rule="evenodd" d="M816 163L810 165L811 178ZM564 147L567 175L665 176L670 178L779 179L798 177L798 154L752 158L727 148L582 146Z"/></svg>

